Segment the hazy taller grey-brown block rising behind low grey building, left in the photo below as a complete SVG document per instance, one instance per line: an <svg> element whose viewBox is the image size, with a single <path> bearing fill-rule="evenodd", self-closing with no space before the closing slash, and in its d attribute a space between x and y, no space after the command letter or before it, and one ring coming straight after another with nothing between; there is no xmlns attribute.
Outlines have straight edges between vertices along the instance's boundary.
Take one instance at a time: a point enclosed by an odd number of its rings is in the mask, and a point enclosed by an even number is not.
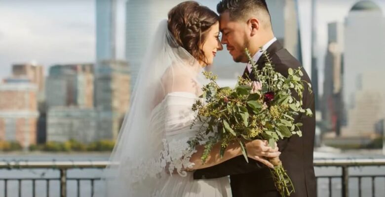
<svg viewBox="0 0 385 197"><path fill-rule="evenodd" d="M58 91L61 90L61 91ZM49 69L46 106L94 106L93 64L55 65Z"/></svg>

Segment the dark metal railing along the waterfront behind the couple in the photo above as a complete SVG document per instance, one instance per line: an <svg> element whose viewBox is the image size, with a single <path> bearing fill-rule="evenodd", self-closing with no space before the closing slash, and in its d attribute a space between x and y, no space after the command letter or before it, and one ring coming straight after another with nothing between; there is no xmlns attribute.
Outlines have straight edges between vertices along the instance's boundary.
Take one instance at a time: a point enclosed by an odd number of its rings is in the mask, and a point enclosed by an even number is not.
<svg viewBox="0 0 385 197"><path fill-rule="evenodd" d="M87 169L103 169L109 162L0 162L0 169L39 169L39 168L48 168L48 169L57 169L60 171L60 176L58 178L4 178L0 177L0 181L4 182L4 197L7 197L7 183L9 181L18 182L18 197L21 197L21 183L22 181L32 181L32 196L36 197L36 181L46 181L46 196L49 197L49 185L50 181L60 181L60 197L67 197L67 181L76 181L77 182L77 197L80 196L80 181L90 181L91 184L91 197L94 194L94 183L100 178L68 178L67 170L69 169L78 169L78 168L87 168ZM315 167L340 167L342 175L333 175L333 176L317 176L317 183L319 179L328 179L329 181L329 197L332 197L332 179L341 179L342 184L342 197L349 197L349 179L356 178L358 179L358 196L362 197L361 190L361 181L363 178L371 178L372 180L372 197L375 197L375 180L379 177L385 178L384 174L376 175L354 175L349 176L349 167L354 166L385 166L385 159L325 159L325 160L315 160ZM318 185L318 184L317 184ZM38 195L39 197L41 195Z"/></svg>

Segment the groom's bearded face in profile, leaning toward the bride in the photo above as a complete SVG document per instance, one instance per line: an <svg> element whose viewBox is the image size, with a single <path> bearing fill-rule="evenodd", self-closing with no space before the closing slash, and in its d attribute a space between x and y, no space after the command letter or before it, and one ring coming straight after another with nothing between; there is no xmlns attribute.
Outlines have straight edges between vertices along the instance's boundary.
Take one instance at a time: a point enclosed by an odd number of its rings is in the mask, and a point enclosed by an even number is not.
<svg viewBox="0 0 385 197"><path fill-rule="evenodd" d="M221 14L220 30L222 32L222 44L226 44L226 48L234 62L247 63L248 59L244 52L248 48L247 24L242 21L230 19L229 12Z"/></svg>

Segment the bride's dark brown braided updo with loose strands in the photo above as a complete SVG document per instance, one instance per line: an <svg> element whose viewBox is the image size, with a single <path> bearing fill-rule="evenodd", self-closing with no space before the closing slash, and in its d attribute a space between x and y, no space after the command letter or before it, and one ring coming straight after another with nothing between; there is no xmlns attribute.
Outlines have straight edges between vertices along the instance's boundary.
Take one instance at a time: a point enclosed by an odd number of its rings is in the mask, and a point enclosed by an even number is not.
<svg viewBox="0 0 385 197"><path fill-rule="evenodd" d="M201 47L208 30L218 21L219 16L213 10L195 1L179 3L168 12L168 30L178 45L206 64Z"/></svg>

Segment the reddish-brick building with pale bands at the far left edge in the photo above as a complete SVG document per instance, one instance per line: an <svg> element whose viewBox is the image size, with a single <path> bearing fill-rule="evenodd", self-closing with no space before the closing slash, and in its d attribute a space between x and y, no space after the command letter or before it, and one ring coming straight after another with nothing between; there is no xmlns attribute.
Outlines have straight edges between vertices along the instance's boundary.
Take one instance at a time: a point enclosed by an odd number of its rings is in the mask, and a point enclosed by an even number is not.
<svg viewBox="0 0 385 197"><path fill-rule="evenodd" d="M30 79L9 78L0 84L0 140L36 144L38 86Z"/></svg>

